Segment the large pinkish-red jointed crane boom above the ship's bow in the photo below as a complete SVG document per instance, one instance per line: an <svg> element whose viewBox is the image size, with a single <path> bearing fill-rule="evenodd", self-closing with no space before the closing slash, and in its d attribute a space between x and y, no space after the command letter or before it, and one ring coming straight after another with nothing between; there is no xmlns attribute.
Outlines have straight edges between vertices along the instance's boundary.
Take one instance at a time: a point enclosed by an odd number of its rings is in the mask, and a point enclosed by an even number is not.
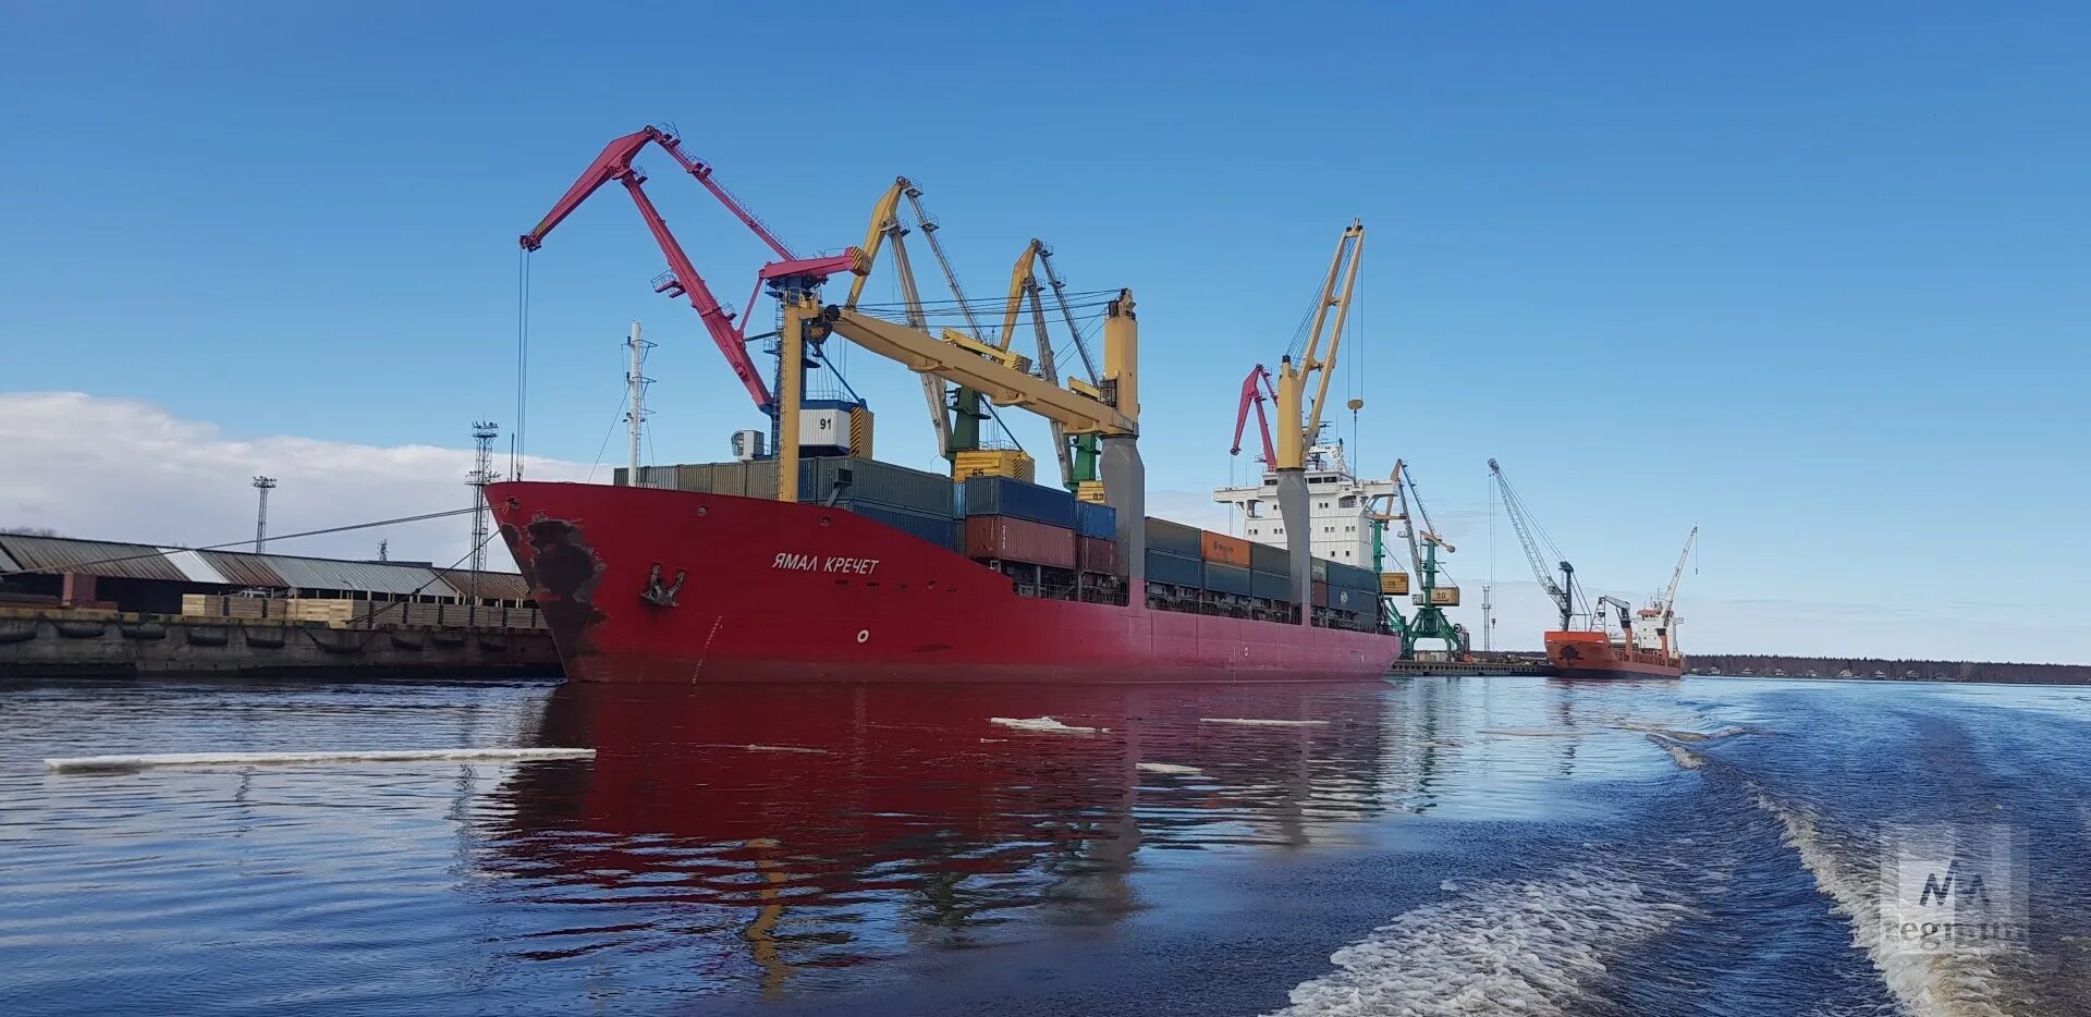
<svg viewBox="0 0 2091 1017"><path fill-rule="evenodd" d="M654 209L652 201L646 197L646 190L640 186L646 182L646 176L636 165L631 165L631 157L638 155L638 151L644 149L646 142L654 142L661 149L665 149L675 159L677 165L682 165L690 176L694 176L698 184L705 184L705 190L709 190L715 199L719 199L719 203L726 205L726 209L732 211L734 218L746 224L749 230L755 230L755 236L759 236L765 245L769 245L772 251L778 253L782 262L772 262L763 266L761 278L757 280L757 291L761 291L763 280L774 282L780 278L792 278L801 287L813 287L820 285L828 274L855 270L859 262L855 249L834 257L799 259L797 255L792 255L790 249L784 247L784 243L778 241L776 234L759 218L755 218L755 213L742 207L732 193L728 193L711 178L711 165L686 155L682 151L682 142L673 134L652 126L648 126L646 130L625 134L623 138L617 138L611 144L606 144L602 149L602 155L598 155L596 161L581 172L581 178L575 180L565 195L560 195L558 203L552 205L552 211L548 211L544 220L537 222L535 228L525 232L519 239L519 243L523 245L525 251L535 251L537 247L544 247L546 234L550 234L554 226L565 222L567 216L573 213L573 209L581 207L581 203L588 201L590 195L600 190L602 184L608 184L611 180L623 184L625 193L631 195L631 203L638 205L640 218L646 220L646 228L652 232L654 243L661 247L661 255L667 257L669 274L665 280L659 280L654 285L654 291L667 293L669 297L690 299L690 308L696 308L698 318L705 320L705 331L711 333L711 341L719 347L721 354L726 354L726 364L734 370L734 377L740 379L740 385L749 389L749 396L755 398L755 406L759 406L763 412L772 412L774 398L769 396L769 387L763 383L761 372L749 358L746 337L744 337L746 324L734 329L732 312L728 312L719 303L719 299L711 295L711 287L705 285L705 276L700 276L696 272L696 266L690 264L690 255L684 253L680 243L675 243L675 234L667 230L667 220L661 218L661 211Z"/></svg>

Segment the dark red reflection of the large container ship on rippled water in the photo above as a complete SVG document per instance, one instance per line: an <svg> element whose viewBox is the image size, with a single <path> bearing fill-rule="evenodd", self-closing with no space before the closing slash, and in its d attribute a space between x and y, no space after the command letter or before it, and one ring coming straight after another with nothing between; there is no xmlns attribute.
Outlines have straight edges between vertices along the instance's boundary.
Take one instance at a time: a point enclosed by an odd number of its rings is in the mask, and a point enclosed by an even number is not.
<svg viewBox="0 0 2091 1017"><path fill-rule="evenodd" d="M1384 810L1384 705L1376 684L567 684L542 743L596 762L516 768L483 864L539 900L690 908L780 988L1018 917L1115 921L1142 906L1135 862L1330 839ZM1037 716L1100 730L991 720Z"/></svg>

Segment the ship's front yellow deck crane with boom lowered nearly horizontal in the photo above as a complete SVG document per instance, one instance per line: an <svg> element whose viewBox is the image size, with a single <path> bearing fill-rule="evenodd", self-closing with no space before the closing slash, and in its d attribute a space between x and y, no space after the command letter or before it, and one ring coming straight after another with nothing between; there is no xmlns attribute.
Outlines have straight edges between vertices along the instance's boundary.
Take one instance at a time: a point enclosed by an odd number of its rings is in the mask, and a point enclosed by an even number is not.
<svg viewBox="0 0 2091 1017"><path fill-rule="evenodd" d="M786 364L805 358L807 345L841 335L910 370L976 391L995 406L1018 406L1060 425L1069 435L1098 435L1100 473L1108 504L1119 515L1119 555L1127 563L1131 603L1142 603L1146 580L1146 465L1140 460L1140 322L1133 293L1121 289L1104 312L1104 375L1092 391L1075 391L1033 377L1012 354L962 341L945 331L930 335L905 322L820 306L820 291L778 287L778 339ZM778 387L780 412L790 419L803 400L803 379L786 370ZM799 448L778 448L778 500L799 500Z"/></svg>

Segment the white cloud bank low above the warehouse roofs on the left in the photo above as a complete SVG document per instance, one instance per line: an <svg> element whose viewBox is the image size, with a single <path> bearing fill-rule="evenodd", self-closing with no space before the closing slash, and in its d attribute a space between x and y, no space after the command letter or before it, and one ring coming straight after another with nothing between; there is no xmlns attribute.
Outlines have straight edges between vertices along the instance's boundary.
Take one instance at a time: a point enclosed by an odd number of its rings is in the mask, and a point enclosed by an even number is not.
<svg viewBox="0 0 2091 1017"><path fill-rule="evenodd" d="M437 446L358 446L309 437L230 437L217 425L157 406L77 391L0 393L0 527L163 546L251 540L253 475L276 477L270 534L370 523L470 504L473 452ZM506 467L500 456L498 467ZM585 467L529 460L539 479L579 479ZM378 540L399 561L450 565L470 548L470 517L270 540L284 555L374 559ZM491 546L487 565L512 569Z"/></svg>

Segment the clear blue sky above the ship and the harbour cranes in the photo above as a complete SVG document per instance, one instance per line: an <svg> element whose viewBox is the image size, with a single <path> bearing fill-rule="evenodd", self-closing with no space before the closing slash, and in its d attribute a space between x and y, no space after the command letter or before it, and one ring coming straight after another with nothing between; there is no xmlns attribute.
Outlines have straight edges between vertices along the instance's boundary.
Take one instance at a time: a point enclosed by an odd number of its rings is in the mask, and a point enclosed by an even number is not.
<svg viewBox="0 0 2091 1017"><path fill-rule="evenodd" d="M514 234L673 121L801 251L907 174L974 295L1031 236L1075 289L1133 287L1179 500L1248 473L1234 389L1363 218L1342 435L1414 465L1466 584L1497 456L1593 582L1646 592L1698 523L1687 594L1811 640L1915 617L2091 659L2085 4L491 10L10 10L0 389L460 446L512 423ZM742 301L763 249L642 165ZM755 425L661 268L615 190L533 255L531 452L598 458L634 318L661 460ZM912 377L847 368L882 456L935 462Z"/></svg>

